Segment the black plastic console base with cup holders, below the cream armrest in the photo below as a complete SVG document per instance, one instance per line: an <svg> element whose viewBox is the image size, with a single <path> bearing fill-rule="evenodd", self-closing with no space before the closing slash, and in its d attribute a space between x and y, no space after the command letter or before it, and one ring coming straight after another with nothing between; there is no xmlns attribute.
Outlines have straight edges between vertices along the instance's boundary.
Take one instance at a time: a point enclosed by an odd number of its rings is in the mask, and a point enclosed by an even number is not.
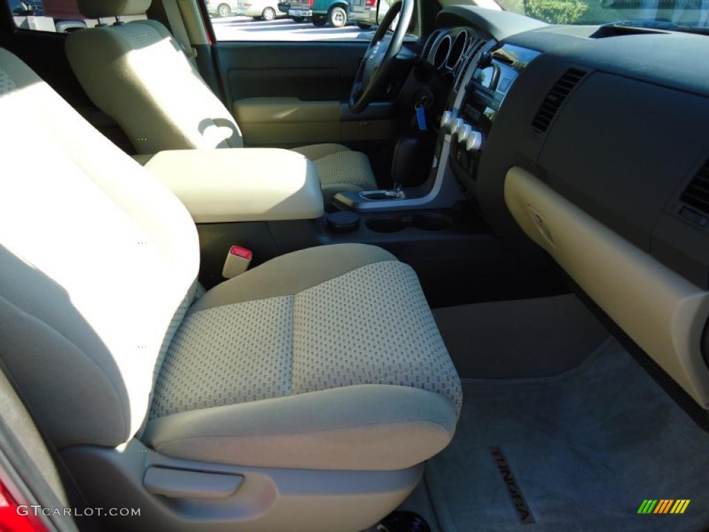
<svg viewBox="0 0 709 532"><path fill-rule="evenodd" d="M211 288L224 280L224 259L234 244L253 251L254 267L316 245L365 243L379 245L411 265L432 307L542 297L566 290L552 270L530 270L508 253L467 204L452 209L358 214L357 227L345 233L329 229L325 216L200 224L200 281Z"/></svg>

